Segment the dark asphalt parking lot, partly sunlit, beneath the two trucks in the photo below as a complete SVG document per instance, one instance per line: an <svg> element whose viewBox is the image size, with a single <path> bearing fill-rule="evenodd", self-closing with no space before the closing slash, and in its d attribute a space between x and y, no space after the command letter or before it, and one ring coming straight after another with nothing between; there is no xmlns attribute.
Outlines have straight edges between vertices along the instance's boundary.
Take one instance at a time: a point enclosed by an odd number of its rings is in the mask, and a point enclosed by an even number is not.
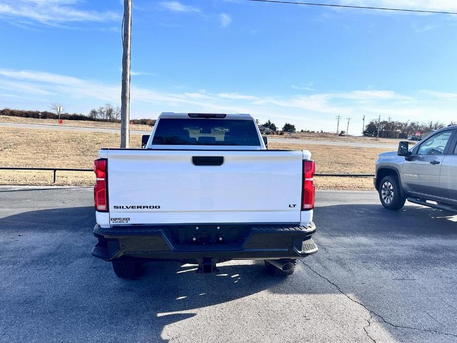
<svg viewBox="0 0 457 343"><path fill-rule="evenodd" d="M0 188L1 342L457 342L457 216L317 192L320 251L287 279L91 257L89 188Z"/></svg>

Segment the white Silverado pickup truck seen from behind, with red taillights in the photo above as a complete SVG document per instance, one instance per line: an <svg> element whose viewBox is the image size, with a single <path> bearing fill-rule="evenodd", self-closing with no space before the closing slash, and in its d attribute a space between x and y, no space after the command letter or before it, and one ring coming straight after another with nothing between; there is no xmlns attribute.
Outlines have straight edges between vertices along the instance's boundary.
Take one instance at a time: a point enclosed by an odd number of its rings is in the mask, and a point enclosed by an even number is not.
<svg viewBox="0 0 457 343"><path fill-rule="evenodd" d="M218 271L263 259L291 275L317 252L309 151L269 150L244 114L162 113L143 149L101 149L95 160L98 243L92 255L137 278L148 260Z"/></svg>

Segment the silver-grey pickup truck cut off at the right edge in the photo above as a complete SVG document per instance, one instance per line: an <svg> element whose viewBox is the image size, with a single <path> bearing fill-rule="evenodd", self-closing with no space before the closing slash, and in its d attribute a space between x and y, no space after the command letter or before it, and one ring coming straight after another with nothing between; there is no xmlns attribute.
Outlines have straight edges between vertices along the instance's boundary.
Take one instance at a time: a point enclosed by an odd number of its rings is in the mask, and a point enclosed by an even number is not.
<svg viewBox="0 0 457 343"><path fill-rule="evenodd" d="M374 186L381 204L399 210L405 201L457 211L457 126L439 129L414 147L379 155Z"/></svg>

